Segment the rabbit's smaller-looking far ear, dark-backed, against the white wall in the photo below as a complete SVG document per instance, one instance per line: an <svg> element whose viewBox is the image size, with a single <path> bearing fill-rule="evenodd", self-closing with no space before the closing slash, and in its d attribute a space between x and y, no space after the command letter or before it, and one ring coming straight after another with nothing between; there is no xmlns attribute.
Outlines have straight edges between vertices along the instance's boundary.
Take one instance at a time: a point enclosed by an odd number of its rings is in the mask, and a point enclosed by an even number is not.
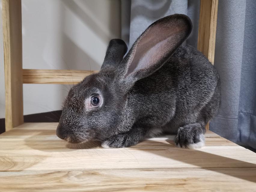
<svg viewBox="0 0 256 192"><path fill-rule="evenodd" d="M116 69L123 60L123 55L127 51L125 42L121 39L112 39L106 51L106 55L101 66L101 70Z"/></svg>

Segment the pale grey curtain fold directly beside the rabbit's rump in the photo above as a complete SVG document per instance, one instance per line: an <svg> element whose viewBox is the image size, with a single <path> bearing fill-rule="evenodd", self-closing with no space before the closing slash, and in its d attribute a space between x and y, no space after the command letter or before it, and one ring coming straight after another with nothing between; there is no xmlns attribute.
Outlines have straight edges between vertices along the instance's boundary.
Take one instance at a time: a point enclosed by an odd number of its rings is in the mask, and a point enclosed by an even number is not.
<svg viewBox="0 0 256 192"><path fill-rule="evenodd" d="M246 1L219 1L214 66L221 77L221 108L210 128L237 141Z"/></svg>

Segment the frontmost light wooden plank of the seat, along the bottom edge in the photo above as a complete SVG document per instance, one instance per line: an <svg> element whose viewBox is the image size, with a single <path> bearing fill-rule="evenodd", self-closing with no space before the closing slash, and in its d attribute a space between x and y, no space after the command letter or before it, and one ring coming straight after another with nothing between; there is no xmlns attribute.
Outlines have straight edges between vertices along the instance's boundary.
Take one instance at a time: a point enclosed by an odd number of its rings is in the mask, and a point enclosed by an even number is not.
<svg viewBox="0 0 256 192"><path fill-rule="evenodd" d="M234 175L205 169L95 169L5 172L0 175L3 191L255 191L255 183L239 174L255 176L248 168L226 170ZM256 171L254 169L254 171ZM152 175L154 174L154 176ZM228 175L228 174L227 174ZM205 176L203 179L201 176ZM214 178L214 179L213 179ZM31 180L33 182L31 182ZM13 182L15 181L15 182ZM30 183L30 184L29 184ZM33 184L32 184L33 183Z"/></svg>

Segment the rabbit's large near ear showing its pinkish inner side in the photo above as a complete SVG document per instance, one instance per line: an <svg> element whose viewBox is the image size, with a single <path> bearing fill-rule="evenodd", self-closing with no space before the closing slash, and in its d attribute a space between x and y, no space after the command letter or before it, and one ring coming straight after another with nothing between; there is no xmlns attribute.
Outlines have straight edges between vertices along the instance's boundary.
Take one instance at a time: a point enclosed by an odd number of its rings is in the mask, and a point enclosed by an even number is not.
<svg viewBox="0 0 256 192"><path fill-rule="evenodd" d="M119 78L132 84L159 69L186 40L192 23L186 15L166 16L151 24L120 63Z"/></svg>

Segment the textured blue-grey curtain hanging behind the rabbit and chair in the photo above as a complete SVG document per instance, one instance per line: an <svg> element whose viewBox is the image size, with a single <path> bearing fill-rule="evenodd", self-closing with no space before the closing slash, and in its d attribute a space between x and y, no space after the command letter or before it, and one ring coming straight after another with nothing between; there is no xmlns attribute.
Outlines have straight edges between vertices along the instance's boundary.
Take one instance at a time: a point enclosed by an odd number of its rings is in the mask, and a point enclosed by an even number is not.
<svg viewBox="0 0 256 192"><path fill-rule="evenodd" d="M193 22L185 42L197 47L200 0L122 0L122 38L130 47L157 19L183 13ZM214 65L221 77L221 108L210 130L256 148L256 1L220 0Z"/></svg>

